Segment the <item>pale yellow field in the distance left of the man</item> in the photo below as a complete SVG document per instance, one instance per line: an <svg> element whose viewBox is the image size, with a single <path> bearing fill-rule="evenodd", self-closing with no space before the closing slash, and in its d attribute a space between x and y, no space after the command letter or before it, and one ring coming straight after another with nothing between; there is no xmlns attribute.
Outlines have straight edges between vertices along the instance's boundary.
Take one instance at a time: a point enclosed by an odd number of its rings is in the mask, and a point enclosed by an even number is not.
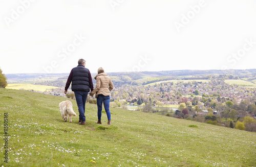
<svg viewBox="0 0 256 167"><path fill-rule="evenodd" d="M55 89L58 87L55 86L46 86L46 85L34 85L34 84L8 84L7 89L24 89L24 90L35 90L35 91L46 91L46 89Z"/></svg>

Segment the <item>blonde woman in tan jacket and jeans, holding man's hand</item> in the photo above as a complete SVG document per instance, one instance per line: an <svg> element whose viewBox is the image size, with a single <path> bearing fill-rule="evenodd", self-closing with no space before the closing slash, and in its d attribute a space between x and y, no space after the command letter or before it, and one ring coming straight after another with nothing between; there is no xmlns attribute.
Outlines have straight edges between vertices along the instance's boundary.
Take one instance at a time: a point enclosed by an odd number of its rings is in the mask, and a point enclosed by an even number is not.
<svg viewBox="0 0 256 167"><path fill-rule="evenodd" d="M106 111L106 116L108 116L108 125L111 124L111 114L110 114L110 91L114 88L114 85L110 79L110 77L104 73L104 69L99 67L98 75L94 78L96 79L96 87L91 91L90 96L97 98L97 106L98 106L98 122L97 124L101 124L101 110L102 110L102 102L104 104L104 108Z"/></svg>

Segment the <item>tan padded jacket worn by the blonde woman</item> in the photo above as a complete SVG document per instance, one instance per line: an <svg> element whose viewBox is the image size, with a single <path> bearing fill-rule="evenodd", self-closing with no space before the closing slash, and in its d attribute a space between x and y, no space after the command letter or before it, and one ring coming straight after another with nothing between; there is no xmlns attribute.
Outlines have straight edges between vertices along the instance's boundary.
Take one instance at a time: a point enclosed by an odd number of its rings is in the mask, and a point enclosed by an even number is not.
<svg viewBox="0 0 256 167"><path fill-rule="evenodd" d="M96 87L91 93L96 93L96 98L99 94L103 94L104 96L111 96L110 91L114 88L114 85L110 77L106 73L100 73L94 79L96 79Z"/></svg>

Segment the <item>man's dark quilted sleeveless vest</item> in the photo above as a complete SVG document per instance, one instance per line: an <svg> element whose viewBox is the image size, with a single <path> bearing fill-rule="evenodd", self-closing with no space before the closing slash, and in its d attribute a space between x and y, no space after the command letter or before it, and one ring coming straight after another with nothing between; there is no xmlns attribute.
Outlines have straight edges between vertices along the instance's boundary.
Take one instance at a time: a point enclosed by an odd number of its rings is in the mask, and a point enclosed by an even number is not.
<svg viewBox="0 0 256 167"><path fill-rule="evenodd" d="M82 64L73 68L72 91L90 91L89 73L89 69L85 68Z"/></svg>

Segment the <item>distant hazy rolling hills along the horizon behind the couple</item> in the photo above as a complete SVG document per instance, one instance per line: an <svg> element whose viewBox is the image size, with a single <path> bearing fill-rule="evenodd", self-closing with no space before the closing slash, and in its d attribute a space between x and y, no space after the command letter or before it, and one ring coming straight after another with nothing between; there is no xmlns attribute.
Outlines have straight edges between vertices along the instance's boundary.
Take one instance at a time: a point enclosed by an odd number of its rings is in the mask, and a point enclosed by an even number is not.
<svg viewBox="0 0 256 167"><path fill-rule="evenodd" d="M92 72L92 71L91 71ZM140 72L119 72L106 73L112 78L116 86L132 84L146 85L167 80L209 80L209 79L243 79L253 81L256 79L256 69L227 69L227 70L169 70L169 71L140 71ZM92 73L92 76L95 76ZM65 80L69 74L6 74L8 84L10 83L40 83L50 81L55 85L56 80ZM94 77L93 77L94 78ZM93 82L95 80L93 79Z"/></svg>

